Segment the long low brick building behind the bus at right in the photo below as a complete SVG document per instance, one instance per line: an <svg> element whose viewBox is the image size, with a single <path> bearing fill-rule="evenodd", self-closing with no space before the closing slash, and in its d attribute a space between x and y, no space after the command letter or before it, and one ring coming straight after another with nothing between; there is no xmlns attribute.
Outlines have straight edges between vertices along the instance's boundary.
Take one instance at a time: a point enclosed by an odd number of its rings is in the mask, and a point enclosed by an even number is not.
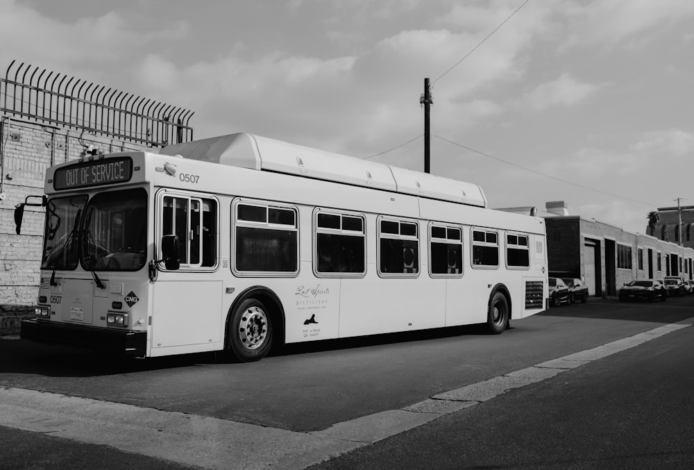
<svg viewBox="0 0 694 470"><path fill-rule="evenodd" d="M564 201L548 202L543 211L500 210L544 217L549 275L582 279L592 296L615 296L620 286L634 279L694 278L693 248L569 215Z"/></svg>

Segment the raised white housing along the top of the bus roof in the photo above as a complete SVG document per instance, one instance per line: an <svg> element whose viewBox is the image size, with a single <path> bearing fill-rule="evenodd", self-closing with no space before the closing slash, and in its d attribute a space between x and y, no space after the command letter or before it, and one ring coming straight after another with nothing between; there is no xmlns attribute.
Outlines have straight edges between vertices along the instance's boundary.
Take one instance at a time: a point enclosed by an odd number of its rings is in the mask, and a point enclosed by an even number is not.
<svg viewBox="0 0 694 470"><path fill-rule="evenodd" d="M162 153L486 207L482 188L473 183L289 144L259 135L237 133L172 144L164 147Z"/></svg>

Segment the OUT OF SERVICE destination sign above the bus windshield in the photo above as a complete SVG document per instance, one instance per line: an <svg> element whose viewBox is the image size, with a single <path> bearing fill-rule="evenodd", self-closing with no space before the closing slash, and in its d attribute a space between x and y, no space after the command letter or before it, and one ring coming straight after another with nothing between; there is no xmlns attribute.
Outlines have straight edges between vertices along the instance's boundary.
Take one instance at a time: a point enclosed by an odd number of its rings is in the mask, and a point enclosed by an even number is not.
<svg viewBox="0 0 694 470"><path fill-rule="evenodd" d="M53 187L60 191L125 183L130 181L131 176L133 160L130 157L108 158L57 169L53 175Z"/></svg>

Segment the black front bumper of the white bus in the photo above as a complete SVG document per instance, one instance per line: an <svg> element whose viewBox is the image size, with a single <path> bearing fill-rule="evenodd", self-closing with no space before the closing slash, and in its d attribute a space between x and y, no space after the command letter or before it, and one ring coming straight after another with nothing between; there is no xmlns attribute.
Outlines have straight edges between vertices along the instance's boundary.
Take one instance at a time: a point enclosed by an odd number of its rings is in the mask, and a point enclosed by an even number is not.
<svg viewBox="0 0 694 470"><path fill-rule="evenodd" d="M147 347L146 331L114 330L39 319L22 321L19 336L35 342L99 349L138 358L146 355Z"/></svg>

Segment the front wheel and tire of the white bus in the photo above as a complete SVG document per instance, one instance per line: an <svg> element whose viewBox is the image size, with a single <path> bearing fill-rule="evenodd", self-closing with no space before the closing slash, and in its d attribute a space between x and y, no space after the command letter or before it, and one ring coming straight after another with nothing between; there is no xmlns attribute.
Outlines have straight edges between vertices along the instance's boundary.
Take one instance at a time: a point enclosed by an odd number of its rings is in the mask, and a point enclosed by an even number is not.
<svg viewBox="0 0 694 470"><path fill-rule="evenodd" d="M272 346L272 321L269 310L257 299L246 299L230 319L229 346L241 362L261 360Z"/></svg>

